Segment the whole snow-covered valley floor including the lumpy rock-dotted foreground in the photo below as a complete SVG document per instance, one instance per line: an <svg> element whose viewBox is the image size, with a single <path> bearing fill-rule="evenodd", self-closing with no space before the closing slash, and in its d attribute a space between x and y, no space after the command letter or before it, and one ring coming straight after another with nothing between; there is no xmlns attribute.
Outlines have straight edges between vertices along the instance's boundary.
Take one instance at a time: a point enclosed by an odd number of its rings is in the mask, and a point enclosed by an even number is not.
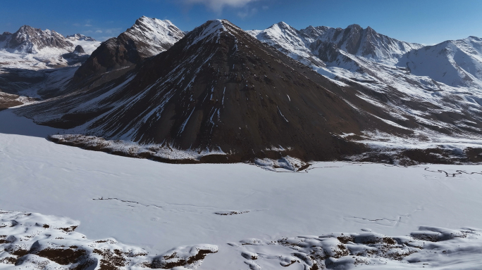
<svg viewBox="0 0 482 270"><path fill-rule="evenodd" d="M121 250L132 269L482 268L479 165L172 165L45 139L56 132L0 112L0 269L68 269L47 250L62 245L94 261ZM19 245L31 261L2 261Z"/></svg>

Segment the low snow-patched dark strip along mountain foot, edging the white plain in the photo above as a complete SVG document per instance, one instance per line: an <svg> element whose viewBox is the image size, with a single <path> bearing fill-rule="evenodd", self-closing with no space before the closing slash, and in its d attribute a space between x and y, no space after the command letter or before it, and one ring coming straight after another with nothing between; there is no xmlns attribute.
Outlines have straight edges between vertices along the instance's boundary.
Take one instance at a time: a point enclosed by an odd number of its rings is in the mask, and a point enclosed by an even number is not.
<svg viewBox="0 0 482 270"><path fill-rule="evenodd" d="M363 143L355 143L351 141L344 143L350 151L356 150L358 153L354 155L346 155L338 148L337 153L330 155L317 155L315 159L303 158L306 153L299 150L264 150L258 153L208 153L199 156L199 158L182 158L171 159L161 158L156 152L150 150L139 150L137 146L122 150L115 146L116 141L105 141L104 139L89 139L82 135L67 136L49 136L49 141L63 144L66 146L75 146L85 150L101 151L112 155L120 155L128 158L145 158L157 162L165 162L170 164L199 164L199 163L239 163L239 162L256 162L257 159L280 160L287 156L297 158L302 162L301 167L295 167L296 171L301 171L309 167L312 161L350 161L350 162L373 162L383 163L387 165L414 166L424 164L481 164L482 148L460 148L444 149L444 148L426 148L426 149L406 149L406 150L370 150ZM120 142L120 141L117 141ZM114 143L114 144L113 144ZM168 148L168 146L166 146ZM137 148L137 150L135 150ZM149 149L149 148L147 148Z"/></svg>

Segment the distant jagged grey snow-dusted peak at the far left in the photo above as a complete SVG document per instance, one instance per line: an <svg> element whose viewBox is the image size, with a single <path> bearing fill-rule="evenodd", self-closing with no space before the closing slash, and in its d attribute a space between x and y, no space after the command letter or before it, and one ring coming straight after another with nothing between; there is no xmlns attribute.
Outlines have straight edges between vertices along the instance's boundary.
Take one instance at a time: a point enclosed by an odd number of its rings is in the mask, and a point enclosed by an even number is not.
<svg viewBox="0 0 482 270"><path fill-rule="evenodd" d="M4 33L5 34L5 33ZM7 49L17 49L25 53L36 53L37 50L45 47L67 49L73 46L70 41L55 31L36 29L24 25L20 29L5 39Z"/></svg>

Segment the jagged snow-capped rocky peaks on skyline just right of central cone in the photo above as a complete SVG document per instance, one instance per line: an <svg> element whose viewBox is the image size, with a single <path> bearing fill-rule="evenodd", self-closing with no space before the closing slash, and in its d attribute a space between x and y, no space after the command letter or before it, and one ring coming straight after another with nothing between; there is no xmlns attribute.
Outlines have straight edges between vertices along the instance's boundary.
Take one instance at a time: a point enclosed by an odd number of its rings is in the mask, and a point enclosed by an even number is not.
<svg viewBox="0 0 482 270"><path fill-rule="evenodd" d="M404 53L419 49L421 44L412 44L378 34L371 27L350 25L345 29L326 26L309 26L303 30L281 22L266 30L248 31L260 41L286 55L314 67L325 67L323 62L334 62L340 51L353 56L362 56L378 62L396 63Z"/></svg>

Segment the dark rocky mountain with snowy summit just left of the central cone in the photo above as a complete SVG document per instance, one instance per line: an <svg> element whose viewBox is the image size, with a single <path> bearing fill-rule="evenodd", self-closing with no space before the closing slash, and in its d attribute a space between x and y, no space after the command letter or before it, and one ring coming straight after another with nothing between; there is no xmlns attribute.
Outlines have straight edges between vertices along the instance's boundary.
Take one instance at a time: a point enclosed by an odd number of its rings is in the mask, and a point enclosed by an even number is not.
<svg viewBox="0 0 482 270"><path fill-rule="evenodd" d="M184 32L170 21L143 16L118 37L104 41L75 73L73 82L121 70L109 75L109 78L116 77L145 58L166 51L183 37Z"/></svg>

